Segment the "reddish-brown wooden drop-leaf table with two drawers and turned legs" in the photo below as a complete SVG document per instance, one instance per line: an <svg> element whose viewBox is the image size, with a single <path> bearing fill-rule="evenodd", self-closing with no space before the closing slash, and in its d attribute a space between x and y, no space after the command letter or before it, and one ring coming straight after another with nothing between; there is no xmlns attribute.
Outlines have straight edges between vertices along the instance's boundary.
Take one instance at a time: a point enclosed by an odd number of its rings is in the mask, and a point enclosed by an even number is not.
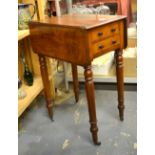
<svg viewBox="0 0 155 155"><path fill-rule="evenodd" d="M29 24L33 51L38 54L48 114L53 117L53 100L45 57L70 62L75 99L78 101L79 88L77 65L84 67L85 89L88 101L90 131L93 142L99 145L94 82L91 62L107 52L115 50L118 89L118 109L123 121L124 82L122 50L127 46L126 17L102 15L63 15Z"/></svg>

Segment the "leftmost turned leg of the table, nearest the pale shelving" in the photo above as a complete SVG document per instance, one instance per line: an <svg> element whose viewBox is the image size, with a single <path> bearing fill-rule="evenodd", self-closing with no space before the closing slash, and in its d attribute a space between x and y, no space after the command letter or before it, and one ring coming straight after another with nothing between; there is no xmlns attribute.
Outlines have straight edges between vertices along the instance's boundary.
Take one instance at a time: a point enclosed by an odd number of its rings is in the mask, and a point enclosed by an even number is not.
<svg viewBox="0 0 155 155"><path fill-rule="evenodd" d="M48 114L51 119L53 119L53 100L51 96L51 90L50 90L50 82L48 79L48 71L46 66L46 59L42 55L39 56L39 62L40 62L40 70L41 70L41 76L43 80L44 85L44 94L46 99L46 106L48 109Z"/></svg>

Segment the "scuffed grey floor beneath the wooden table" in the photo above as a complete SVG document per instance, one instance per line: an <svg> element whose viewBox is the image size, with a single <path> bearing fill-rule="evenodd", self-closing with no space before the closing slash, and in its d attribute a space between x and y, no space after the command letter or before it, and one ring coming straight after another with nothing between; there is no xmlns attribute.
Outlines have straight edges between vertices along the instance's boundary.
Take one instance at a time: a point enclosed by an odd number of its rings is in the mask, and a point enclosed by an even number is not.
<svg viewBox="0 0 155 155"><path fill-rule="evenodd" d="M136 155L137 92L125 91L125 120L118 117L117 91L95 90L100 146L94 146L89 132L85 92L48 116L43 96L19 119L19 155Z"/></svg>

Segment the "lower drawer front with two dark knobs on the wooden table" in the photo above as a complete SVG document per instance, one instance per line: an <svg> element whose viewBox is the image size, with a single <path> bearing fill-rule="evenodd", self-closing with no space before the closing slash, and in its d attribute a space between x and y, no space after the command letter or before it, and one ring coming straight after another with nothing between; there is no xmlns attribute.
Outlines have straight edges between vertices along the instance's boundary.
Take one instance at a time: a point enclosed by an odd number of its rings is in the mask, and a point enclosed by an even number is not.
<svg viewBox="0 0 155 155"><path fill-rule="evenodd" d="M119 35L104 39L102 41L92 44L93 55L95 56L103 54L107 50L114 50L118 45L120 45Z"/></svg>

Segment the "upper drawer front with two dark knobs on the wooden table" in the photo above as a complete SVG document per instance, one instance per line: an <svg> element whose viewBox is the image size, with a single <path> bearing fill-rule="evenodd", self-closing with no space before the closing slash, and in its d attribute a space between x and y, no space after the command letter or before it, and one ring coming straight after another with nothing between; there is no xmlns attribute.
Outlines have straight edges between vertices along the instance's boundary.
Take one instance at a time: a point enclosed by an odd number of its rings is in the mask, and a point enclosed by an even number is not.
<svg viewBox="0 0 155 155"><path fill-rule="evenodd" d="M91 41L95 42L98 40L105 39L112 35L119 33L119 23L111 23L104 27L99 27L91 31Z"/></svg>

